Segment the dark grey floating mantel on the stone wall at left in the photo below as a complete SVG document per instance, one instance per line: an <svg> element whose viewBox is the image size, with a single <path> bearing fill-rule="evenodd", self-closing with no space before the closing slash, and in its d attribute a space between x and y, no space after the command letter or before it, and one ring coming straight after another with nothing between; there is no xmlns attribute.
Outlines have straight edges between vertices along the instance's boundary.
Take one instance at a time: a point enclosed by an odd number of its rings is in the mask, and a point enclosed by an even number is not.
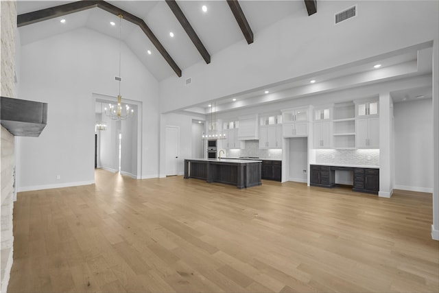
<svg viewBox="0 0 439 293"><path fill-rule="evenodd" d="M16 137L39 137L47 124L47 103L0 97L0 119Z"/></svg>

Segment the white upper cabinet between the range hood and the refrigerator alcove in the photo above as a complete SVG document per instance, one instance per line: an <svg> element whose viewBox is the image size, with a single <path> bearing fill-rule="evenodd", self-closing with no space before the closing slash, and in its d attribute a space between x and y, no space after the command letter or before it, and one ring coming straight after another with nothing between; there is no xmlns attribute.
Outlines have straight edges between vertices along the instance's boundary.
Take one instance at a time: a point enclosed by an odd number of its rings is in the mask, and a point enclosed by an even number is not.
<svg viewBox="0 0 439 293"><path fill-rule="evenodd" d="M259 118L259 148L282 148L282 115Z"/></svg>

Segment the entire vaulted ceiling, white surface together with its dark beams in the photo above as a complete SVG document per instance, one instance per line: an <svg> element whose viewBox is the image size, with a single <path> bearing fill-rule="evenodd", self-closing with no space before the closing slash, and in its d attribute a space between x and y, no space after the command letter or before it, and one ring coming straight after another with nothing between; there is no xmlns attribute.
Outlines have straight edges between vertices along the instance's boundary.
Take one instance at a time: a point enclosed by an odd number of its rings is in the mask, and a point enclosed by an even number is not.
<svg viewBox="0 0 439 293"><path fill-rule="evenodd" d="M22 45L78 27L119 38L121 14L121 39L158 81L202 60L208 66L211 56L234 43L252 44L286 16L315 12L315 0L17 2Z"/></svg>

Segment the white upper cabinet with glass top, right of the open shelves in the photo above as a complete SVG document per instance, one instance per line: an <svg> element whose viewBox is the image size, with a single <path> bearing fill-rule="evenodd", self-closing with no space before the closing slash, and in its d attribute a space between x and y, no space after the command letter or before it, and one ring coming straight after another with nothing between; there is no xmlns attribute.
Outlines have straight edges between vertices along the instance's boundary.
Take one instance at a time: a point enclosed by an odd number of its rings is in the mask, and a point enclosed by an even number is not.
<svg viewBox="0 0 439 293"><path fill-rule="evenodd" d="M378 101L355 103L355 147L379 148Z"/></svg>

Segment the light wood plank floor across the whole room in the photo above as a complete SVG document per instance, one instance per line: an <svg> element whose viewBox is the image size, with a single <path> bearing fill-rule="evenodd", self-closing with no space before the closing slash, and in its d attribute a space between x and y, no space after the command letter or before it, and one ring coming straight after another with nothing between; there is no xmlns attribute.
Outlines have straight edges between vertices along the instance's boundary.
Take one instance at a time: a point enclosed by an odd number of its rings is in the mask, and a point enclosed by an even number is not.
<svg viewBox="0 0 439 293"><path fill-rule="evenodd" d="M431 194L174 176L18 195L8 292L439 292Z"/></svg>

